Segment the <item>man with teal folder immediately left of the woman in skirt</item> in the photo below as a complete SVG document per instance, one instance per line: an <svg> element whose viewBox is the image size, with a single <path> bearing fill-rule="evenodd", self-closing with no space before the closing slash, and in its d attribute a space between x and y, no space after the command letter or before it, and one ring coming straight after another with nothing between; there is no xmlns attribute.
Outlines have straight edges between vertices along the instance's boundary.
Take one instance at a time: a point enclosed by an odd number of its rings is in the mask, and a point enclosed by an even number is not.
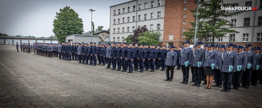
<svg viewBox="0 0 262 108"><path fill-rule="evenodd" d="M202 76L202 68L204 65L205 60L205 52L204 49L201 48L202 42L198 41L196 43L197 47L193 51L193 59L192 59L192 65L193 65L193 75L194 75L194 84L193 86L199 87L201 84L201 76Z"/></svg>

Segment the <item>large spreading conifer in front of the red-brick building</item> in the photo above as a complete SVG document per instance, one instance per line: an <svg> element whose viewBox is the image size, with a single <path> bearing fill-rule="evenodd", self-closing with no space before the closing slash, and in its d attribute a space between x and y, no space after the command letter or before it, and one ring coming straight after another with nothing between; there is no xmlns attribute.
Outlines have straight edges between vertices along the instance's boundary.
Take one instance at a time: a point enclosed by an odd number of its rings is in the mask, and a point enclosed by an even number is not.
<svg viewBox="0 0 262 108"><path fill-rule="evenodd" d="M231 30L227 28L222 28L221 26L232 27L230 21L225 20L225 18L230 18L232 16L240 14L240 12L228 12L226 10L221 10L221 6L224 7L234 7L237 4L224 3L223 0L210 0L210 2L200 2L198 8L198 26L196 38L199 41L209 41L212 38L212 43L214 43L215 38L226 37L229 33L239 33L236 30ZM196 19L196 10L190 10ZM195 22L190 22L193 28L187 28L189 32L183 32L187 37L186 40L190 40L195 36Z"/></svg>

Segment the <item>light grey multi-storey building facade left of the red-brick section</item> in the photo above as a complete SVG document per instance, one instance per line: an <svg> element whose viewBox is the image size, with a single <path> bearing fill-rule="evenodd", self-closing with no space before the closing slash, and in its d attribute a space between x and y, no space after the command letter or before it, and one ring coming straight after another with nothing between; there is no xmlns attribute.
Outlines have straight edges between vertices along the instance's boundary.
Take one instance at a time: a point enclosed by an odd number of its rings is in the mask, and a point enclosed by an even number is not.
<svg viewBox="0 0 262 108"><path fill-rule="evenodd" d="M132 0L110 6L110 41L123 42L136 28L146 26L163 35L165 0ZM163 36L159 37L163 41Z"/></svg>

